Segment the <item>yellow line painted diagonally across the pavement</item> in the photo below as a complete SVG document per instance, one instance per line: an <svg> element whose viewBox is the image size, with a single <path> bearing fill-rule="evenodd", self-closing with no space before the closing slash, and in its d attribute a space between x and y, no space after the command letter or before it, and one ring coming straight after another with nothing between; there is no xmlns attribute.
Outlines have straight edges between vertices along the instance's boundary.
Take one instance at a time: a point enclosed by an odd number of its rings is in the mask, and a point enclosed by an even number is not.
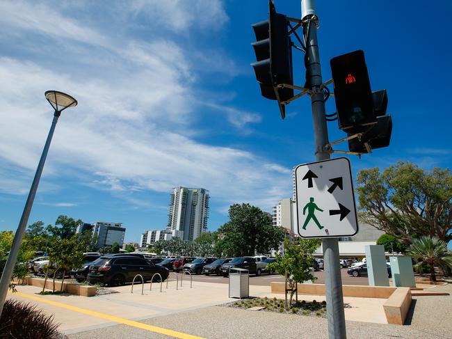
<svg viewBox="0 0 452 339"><path fill-rule="evenodd" d="M10 292L8 292L8 293L10 293ZM106 313L100 313L100 312L96 312L94 310L86 310L85 308L79 308L76 306L67 305L66 303L59 303L58 301L48 300L48 299L45 299L42 297L36 297L31 294L15 292L12 295L17 295L18 297L24 297L24 298L32 299L35 301L41 301L43 303L49 303L49 305L66 308L67 310L73 310L75 312L84 313L86 315L92 315L93 317L110 320L111 322L119 322L120 324L138 327L138 329L144 329L146 331L152 331L152 332L156 332L156 333L165 334L166 336L172 336L172 337L181 338L181 339L204 339L202 337L192 336L191 334L186 334L186 333L182 333L182 332L178 332L178 331L172 331L170 329L163 329L162 327L143 324L142 322L135 322L134 320L127 320L122 317L115 317L115 315L108 315Z"/></svg>

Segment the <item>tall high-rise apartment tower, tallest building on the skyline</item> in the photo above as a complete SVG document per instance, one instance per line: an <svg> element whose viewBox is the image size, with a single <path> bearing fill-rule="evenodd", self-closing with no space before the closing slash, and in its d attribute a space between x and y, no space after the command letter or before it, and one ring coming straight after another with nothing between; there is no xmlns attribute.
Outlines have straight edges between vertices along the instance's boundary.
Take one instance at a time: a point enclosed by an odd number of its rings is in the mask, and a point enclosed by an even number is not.
<svg viewBox="0 0 452 339"><path fill-rule="evenodd" d="M168 230L184 240L194 240L207 230L209 191L175 187L170 198Z"/></svg>

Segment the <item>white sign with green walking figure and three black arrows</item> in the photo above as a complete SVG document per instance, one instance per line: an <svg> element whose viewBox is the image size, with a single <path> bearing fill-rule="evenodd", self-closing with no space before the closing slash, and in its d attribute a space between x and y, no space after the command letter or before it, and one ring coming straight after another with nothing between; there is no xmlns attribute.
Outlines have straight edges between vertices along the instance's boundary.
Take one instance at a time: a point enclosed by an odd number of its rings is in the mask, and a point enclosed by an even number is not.
<svg viewBox="0 0 452 339"><path fill-rule="evenodd" d="M298 234L352 237L358 232L350 161L335 158L296 167Z"/></svg>

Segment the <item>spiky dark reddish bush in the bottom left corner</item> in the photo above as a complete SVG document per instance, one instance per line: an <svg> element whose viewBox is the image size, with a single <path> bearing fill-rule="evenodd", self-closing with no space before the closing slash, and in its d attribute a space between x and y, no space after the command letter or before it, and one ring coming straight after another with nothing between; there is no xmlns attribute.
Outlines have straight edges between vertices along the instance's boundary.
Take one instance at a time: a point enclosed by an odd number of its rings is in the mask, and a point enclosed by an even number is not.
<svg viewBox="0 0 452 339"><path fill-rule="evenodd" d="M0 317L0 339L6 338L58 338L58 324L29 303L7 300Z"/></svg>

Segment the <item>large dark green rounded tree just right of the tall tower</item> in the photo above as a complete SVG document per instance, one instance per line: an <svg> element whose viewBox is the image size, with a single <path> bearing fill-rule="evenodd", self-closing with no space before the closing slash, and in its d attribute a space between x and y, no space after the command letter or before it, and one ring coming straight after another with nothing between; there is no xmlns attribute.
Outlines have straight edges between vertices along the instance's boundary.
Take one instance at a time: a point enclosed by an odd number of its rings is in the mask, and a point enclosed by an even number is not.
<svg viewBox="0 0 452 339"><path fill-rule="evenodd" d="M255 255L277 249L284 230L273 226L271 215L250 204L229 207L229 221L218 229L216 253L227 256Z"/></svg>

